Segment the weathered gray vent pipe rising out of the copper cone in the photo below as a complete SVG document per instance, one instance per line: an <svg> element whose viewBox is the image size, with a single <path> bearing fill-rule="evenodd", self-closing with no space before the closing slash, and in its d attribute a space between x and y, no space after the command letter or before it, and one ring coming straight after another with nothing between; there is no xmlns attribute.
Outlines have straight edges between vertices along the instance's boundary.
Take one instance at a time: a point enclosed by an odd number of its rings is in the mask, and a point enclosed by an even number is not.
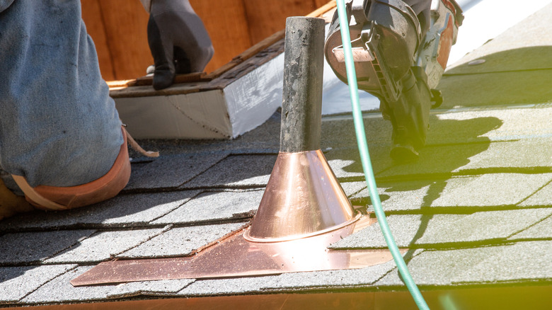
<svg viewBox="0 0 552 310"><path fill-rule="evenodd" d="M324 20L286 20L280 151L320 149Z"/></svg>

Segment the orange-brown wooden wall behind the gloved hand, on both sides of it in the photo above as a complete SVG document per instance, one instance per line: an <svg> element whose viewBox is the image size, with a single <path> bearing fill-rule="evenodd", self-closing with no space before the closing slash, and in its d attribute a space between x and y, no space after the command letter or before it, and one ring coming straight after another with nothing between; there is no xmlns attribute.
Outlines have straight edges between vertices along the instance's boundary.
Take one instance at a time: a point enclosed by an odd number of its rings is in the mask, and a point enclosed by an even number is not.
<svg viewBox="0 0 552 310"><path fill-rule="evenodd" d="M329 0L190 0L211 36L211 72L248 47L285 28L287 16L304 16ZM148 14L139 0L81 0L82 18L96 44L106 81L135 79L154 63L147 43Z"/></svg>

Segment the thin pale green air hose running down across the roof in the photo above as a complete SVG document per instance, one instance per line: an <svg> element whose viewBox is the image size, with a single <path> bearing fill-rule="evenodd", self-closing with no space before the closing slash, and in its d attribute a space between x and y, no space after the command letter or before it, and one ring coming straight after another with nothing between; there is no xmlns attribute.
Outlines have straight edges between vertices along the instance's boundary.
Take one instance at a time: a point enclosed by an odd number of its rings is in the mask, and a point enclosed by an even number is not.
<svg viewBox="0 0 552 310"><path fill-rule="evenodd" d="M376 180L374 178L374 171L372 170L372 163L370 162L370 155L368 153L368 144L366 141L366 134L364 133L364 122L362 122L362 111L360 110L360 103L358 99L358 86L357 86L357 74L355 72L355 65L352 59L351 41L349 35L349 23L347 21L347 13L345 11L345 0L337 0L339 23L341 25L341 40L343 41L343 50L345 52L345 68L347 69L347 81L349 82L349 91L352 103L352 117L355 122L355 132L357 134L357 144L360 151L360 160L362 161L362 169L364 170L364 177L368 185L370 197L372 198L372 205L374 205L374 212L378 219L381 232L384 234L384 239L387 243L389 251L393 256L393 260L397 265L398 271L401 272L403 281L405 282L408 291L412 295L414 302L419 309L430 309L418 286L414 283L408 267L401 256L401 252L398 251L389 224L385 217L384 209L381 207L381 201L379 200L379 194L376 186Z"/></svg>

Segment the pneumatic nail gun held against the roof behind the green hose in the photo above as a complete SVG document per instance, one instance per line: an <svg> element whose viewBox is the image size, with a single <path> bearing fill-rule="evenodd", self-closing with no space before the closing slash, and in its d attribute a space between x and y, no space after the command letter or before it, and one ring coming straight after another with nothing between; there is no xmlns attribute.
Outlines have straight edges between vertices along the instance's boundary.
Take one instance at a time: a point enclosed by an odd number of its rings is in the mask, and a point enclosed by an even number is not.
<svg viewBox="0 0 552 310"><path fill-rule="evenodd" d="M357 84L380 100L393 125L391 158L418 159L429 110L463 20L454 0L352 0L346 5ZM336 76L347 83L337 12L324 47Z"/></svg>

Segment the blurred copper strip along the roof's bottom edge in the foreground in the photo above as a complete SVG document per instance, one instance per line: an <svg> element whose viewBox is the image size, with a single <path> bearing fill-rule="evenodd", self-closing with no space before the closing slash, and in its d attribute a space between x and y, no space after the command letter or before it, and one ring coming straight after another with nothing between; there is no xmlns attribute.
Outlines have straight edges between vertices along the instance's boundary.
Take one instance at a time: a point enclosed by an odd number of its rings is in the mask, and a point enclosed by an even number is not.
<svg viewBox="0 0 552 310"><path fill-rule="evenodd" d="M11 309L27 310L140 310L140 309L417 309L410 293L396 291L338 291L249 294L217 297L121 299L86 304L50 304ZM507 286L422 289L431 309L546 309L552 304L550 283Z"/></svg>

